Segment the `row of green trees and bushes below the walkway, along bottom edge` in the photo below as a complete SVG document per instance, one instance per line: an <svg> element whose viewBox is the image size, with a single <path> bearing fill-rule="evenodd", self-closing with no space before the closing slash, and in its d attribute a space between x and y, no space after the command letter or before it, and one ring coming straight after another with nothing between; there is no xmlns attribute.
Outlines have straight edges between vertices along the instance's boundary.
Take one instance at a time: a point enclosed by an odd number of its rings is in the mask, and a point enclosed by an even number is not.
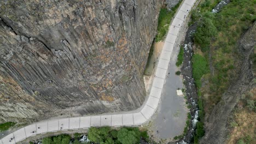
<svg viewBox="0 0 256 144"><path fill-rule="evenodd" d="M138 128L121 128L119 130L111 129L110 127L90 128L88 131L88 139L94 143L101 144L137 144L141 139L148 141L149 136L147 131L139 131ZM80 134L74 134L72 143L88 143L79 141ZM72 137L67 134L58 136L45 137L43 144L69 144ZM32 142L31 142L32 143Z"/></svg>

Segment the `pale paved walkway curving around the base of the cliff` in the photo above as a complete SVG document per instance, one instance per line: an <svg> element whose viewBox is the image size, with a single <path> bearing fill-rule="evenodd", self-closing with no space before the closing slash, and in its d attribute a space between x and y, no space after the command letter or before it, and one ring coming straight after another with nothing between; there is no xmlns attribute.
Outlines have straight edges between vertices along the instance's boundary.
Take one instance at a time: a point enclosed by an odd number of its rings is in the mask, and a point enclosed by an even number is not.
<svg viewBox="0 0 256 144"><path fill-rule="evenodd" d="M55 132L59 130L83 129L101 126L135 126L147 122L150 119L150 117L153 116L154 112L158 108L158 104L163 92L162 89L164 88L167 78L168 63L170 62L170 60L173 62L176 61L176 59L171 59L173 46L176 43L180 27L182 26L183 21L185 20L184 15L187 15L188 12L186 11L191 9L195 1L196 0L185 0L181 5L181 8L177 11L177 14L171 24L173 27L171 26L167 34L165 45L160 55L158 67L156 68L156 77L154 78L153 86L150 91L149 97L144 102L143 106L139 109L139 111L132 111L130 113L125 112L123 114L120 113L112 115L60 118L38 122L31 125L27 125L26 127L16 130L14 131L14 133L11 133L3 137L3 139L1 139L0 141L0 144L16 143L30 136L48 132ZM168 79L170 79L170 77ZM168 83L169 82L167 82L167 85L171 86ZM174 89L176 89L176 87ZM168 91L165 92L168 93ZM15 139L11 140L12 137L15 137Z"/></svg>

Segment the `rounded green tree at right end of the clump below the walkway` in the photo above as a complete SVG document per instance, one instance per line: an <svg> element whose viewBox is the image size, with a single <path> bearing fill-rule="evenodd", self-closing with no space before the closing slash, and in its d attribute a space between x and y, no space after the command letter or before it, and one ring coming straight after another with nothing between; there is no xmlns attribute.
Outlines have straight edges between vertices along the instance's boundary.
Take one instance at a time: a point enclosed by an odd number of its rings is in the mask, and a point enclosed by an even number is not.
<svg viewBox="0 0 256 144"><path fill-rule="evenodd" d="M118 141L122 144L135 144L139 142L139 136L135 131L122 128L118 131Z"/></svg>

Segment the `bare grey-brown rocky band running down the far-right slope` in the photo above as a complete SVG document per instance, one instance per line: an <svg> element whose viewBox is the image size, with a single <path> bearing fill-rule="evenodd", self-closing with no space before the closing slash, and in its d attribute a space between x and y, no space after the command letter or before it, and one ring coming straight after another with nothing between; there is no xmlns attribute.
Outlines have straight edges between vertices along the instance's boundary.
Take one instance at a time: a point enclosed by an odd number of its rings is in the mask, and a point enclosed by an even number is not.
<svg viewBox="0 0 256 144"><path fill-rule="evenodd" d="M254 47L256 45L256 22L253 27L242 36L238 43L238 52L241 53L241 63L237 71L239 76L233 85L230 86L228 92L225 92L222 96L222 100L214 107L210 121L206 123L206 134L202 138L200 143L226 143L228 138L229 122L228 118L231 116L231 112L241 99L242 94L249 89L256 86L253 72L253 59L251 59L254 53ZM234 77L235 79L235 77Z"/></svg>

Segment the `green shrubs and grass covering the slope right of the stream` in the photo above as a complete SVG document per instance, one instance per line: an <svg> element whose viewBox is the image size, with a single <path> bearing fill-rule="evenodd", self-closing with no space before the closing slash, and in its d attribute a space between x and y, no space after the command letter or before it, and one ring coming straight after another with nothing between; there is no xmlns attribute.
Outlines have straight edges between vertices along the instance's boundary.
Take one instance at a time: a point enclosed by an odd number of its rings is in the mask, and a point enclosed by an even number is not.
<svg viewBox="0 0 256 144"><path fill-rule="evenodd" d="M194 41L198 49L193 55L193 77L199 95L199 122L196 124L194 143L204 135L203 121L205 113L209 115L222 94L236 77L236 63L239 59L237 41L256 20L256 1L233 0L219 13L211 13L219 1L205 0L191 11L189 25L196 23ZM211 66L212 74L209 72ZM201 85L201 77L209 81ZM203 95L207 94L207 97ZM204 105L207 105L205 107ZM248 107L253 102L247 100ZM241 142L241 140L240 140Z"/></svg>

